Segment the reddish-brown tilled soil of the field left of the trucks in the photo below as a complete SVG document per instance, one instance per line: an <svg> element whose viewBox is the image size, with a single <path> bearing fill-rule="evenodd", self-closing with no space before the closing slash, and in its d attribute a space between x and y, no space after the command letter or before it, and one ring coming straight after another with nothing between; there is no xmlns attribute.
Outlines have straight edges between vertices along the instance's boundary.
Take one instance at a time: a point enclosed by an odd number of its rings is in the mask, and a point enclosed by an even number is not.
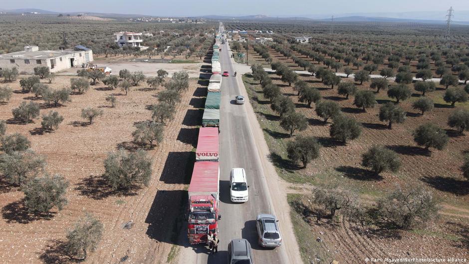
<svg viewBox="0 0 469 264"><path fill-rule="evenodd" d="M69 86L70 78L57 76L50 86ZM18 81L8 86L20 90ZM92 213L104 224L103 240L86 263L165 263L174 229L180 225L180 204L187 195L186 175L191 169L187 166L193 159L192 149L198 133L191 121L198 118L198 112L190 102L198 86L197 80L191 79L174 118L167 121L163 142L147 150L153 161L149 187L131 194L112 192L101 175L107 153L119 147L135 150L131 136L134 125L151 119L147 107L157 103L154 97L157 91L148 89L145 83L132 87L128 95L99 83L90 86L85 94L72 95L72 102L63 106L50 109L43 106L41 114L55 110L64 117L59 128L51 133L41 132L40 118L26 125L8 121L7 133L26 135L31 148L46 157L47 172L61 174L70 186L66 195L69 203L62 211L53 211L49 218L34 218L22 206L22 192L1 185L0 263L68 262L61 252L61 242L85 212ZM115 108L110 108L105 101L110 94L117 97ZM30 93L14 93L8 104L0 105L0 119L10 120L11 109L32 97ZM89 125L80 118L85 107L102 109L104 115Z"/></svg>

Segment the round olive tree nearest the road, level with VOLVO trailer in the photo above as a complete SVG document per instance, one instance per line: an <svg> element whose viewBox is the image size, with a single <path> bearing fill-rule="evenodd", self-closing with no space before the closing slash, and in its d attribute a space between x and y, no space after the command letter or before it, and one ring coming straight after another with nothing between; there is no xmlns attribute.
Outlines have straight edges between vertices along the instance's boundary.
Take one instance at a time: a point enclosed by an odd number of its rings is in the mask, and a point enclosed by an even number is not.
<svg viewBox="0 0 469 264"><path fill-rule="evenodd" d="M311 160L319 157L320 148L321 145L314 137L298 136L295 140L288 141L286 152L291 161L301 161L303 168L306 168Z"/></svg>

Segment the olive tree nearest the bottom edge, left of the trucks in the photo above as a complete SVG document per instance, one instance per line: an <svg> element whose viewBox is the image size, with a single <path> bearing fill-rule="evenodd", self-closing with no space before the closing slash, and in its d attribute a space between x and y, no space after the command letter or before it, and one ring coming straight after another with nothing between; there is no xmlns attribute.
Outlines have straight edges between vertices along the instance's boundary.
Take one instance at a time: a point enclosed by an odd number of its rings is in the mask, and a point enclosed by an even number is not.
<svg viewBox="0 0 469 264"><path fill-rule="evenodd" d="M94 252L103 236L103 224L93 216L86 214L78 220L74 228L68 231L65 252L74 259L85 260L88 252Z"/></svg>

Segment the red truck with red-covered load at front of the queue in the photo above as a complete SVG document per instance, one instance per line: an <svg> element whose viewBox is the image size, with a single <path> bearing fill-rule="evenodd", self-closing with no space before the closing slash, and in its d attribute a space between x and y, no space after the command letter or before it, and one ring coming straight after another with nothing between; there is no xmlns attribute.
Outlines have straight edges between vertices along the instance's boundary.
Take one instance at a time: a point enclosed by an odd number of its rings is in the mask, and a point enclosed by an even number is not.
<svg viewBox="0 0 469 264"><path fill-rule="evenodd" d="M219 163L200 161L194 164L191 184L189 185L187 236L190 244L207 243L210 232L218 233L220 195Z"/></svg>

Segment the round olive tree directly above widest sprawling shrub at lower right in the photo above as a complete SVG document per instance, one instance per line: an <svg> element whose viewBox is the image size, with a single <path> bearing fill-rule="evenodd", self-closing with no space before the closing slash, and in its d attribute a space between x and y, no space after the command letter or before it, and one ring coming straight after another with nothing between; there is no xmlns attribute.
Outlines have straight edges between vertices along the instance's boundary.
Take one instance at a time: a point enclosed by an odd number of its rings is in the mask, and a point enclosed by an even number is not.
<svg viewBox="0 0 469 264"><path fill-rule="evenodd" d="M378 175L383 171L396 172L401 166L401 160L396 152L382 146L373 146L362 154L362 165Z"/></svg>

